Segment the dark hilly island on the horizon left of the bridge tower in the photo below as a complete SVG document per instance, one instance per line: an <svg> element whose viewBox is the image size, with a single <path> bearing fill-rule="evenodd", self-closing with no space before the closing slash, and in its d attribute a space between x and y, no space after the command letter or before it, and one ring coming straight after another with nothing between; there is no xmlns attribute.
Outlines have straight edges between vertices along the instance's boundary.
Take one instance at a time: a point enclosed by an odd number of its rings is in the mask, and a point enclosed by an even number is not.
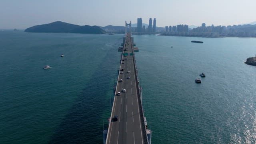
<svg viewBox="0 0 256 144"><path fill-rule="evenodd" d="M80 34L105 34L106 32L98 26L79 26L66 22L52 22L27 28L25 32L58 32L58 33L80 33Z"/></svg>

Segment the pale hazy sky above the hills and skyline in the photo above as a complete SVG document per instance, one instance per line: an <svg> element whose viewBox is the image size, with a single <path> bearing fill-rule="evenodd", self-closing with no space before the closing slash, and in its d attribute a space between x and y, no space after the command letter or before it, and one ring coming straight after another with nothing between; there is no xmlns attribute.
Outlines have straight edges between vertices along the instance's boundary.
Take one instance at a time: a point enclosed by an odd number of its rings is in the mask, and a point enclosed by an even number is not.
<svg viewBox="0 0 256 144"><path fill-rule="evenodd" d="M0 29L25 29L63 21L78 25L124 26L125 20L156 26L206 26L256 21L256 0L0 0Z"/></svg>

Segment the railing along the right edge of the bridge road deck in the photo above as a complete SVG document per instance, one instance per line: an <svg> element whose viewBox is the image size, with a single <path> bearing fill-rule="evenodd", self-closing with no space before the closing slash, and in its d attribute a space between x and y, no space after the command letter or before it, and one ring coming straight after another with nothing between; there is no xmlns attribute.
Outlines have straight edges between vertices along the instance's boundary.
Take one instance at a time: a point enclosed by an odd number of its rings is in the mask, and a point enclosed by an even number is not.
<svg viewBox="0 0 256 144"><path fill-rule="evenodd" d="M134 66L134 70L136 70L136 63L135 63L135 56L134 56L132 41L131 41L131 46L132 46L132 53L133 53L132 54L133 66ZM137 77L136 72L134 72L134 73L135 73L136 89L137 89L137 94L138 94L138 104L139 104L139 109L140 109L140 121L142 124L142 133L143 133L143 138L144 138L144 144L148 144L148 135L146 132L146 126L145 126L145 122L144 122L144 111L143 111L142 101L141 101L141 97L140 97L138 77Z"/></svg>

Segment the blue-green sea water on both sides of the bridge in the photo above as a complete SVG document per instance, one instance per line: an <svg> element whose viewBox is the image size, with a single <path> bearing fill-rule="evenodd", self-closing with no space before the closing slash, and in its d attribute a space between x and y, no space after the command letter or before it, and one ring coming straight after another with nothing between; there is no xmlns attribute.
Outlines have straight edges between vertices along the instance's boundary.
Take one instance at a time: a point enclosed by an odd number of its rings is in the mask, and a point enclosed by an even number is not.
<svg viewBox="0 0 256 144"><path fill-rule="evenodd" d="M0 143L103 143L122 37L1 31ZM256 38L134 42L153 144L256 143L256 67L244 64Z"/></svg>

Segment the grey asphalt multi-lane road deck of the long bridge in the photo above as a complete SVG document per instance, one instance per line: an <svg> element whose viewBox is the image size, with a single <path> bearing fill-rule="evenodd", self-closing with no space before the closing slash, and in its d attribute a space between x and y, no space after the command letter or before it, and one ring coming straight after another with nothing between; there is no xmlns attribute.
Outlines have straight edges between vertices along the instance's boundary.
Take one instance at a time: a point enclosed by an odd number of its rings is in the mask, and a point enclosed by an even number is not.
<svg viewBox="0 0 256 144"><path fill-rule="evenodd" d="M106 144L142 144L145 142L143 127L140 116L140 104L138 100L138 84L136 84L136 70L132 50L132 40L126 36L124 49L128 50L127 60L122 56L120 70L123 68L124 74L118 76L116 93L121 92L120 96L115 96L111 118L118 116L117 121L110 121ZM126 51L127 52L127 51ZM126 53L125 52L125 53ZM130 71L130 73L128 73ZM131 77L128 79L128 77ZM122 82L119 82L122 79ZM126 92L122 92L123 89Z"/></svg>

